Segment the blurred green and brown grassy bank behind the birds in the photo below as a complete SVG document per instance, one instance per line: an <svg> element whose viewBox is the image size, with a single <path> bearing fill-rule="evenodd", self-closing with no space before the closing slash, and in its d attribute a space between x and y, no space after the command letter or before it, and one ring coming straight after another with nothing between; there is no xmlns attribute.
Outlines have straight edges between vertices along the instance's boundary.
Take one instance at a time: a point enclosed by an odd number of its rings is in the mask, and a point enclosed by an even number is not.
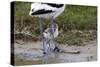
<svg viewBox="0 0 100 67"><path fill-rule="evenodd" d="M24 27L28 27L28 31L34 36L39 36L39 18L29 16L31 8L30 2L14 2L14 24L15 31L20 31ZM21 22L23 21L23 26ZM59 25L60 34L57 38L58 43L79 44L84 40L96 39L97 31L97 7L82 5L66 5L64 12L56 18ZM48 21L44 23L47 27ZM73 30L78 33L74 34ZM90 33L92 30L93 33ZM86 32L87 31L87 32ZM95 33L95 35L94 35ZM89 36L82 36L90 34ZM90 38L89 38L90 37ZM92 38L92 39L91 39Z"/></svg>

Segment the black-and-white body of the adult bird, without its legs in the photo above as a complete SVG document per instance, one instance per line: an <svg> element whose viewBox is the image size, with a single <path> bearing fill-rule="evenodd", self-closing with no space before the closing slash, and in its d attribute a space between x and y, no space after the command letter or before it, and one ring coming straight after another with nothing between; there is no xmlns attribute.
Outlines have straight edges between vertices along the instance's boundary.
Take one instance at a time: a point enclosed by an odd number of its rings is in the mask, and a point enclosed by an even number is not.
<svg viewBox="0 0 100 67"><path fill-rule="evenodd" d="M29 15L40 18L56 18L64 11L64 4L32 3Z"/></svg>

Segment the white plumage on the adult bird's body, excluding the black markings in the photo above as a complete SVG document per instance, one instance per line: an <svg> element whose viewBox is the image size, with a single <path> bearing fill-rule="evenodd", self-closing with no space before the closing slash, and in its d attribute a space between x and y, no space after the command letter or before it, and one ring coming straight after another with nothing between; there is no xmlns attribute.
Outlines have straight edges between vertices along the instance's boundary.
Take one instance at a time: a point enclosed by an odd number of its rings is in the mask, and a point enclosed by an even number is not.
<svg viewBox="0 0 100 67"><path fill-rule="evenodd" d="M61 8L56 8L56 7L51 7L51 6L47 5L47 4L32 3L29 15L32 14L32 9L34 9L34 11L45 9L45 10L52 10L54 12L47 13L47 14L41 14L41 15L34 15L34 16L35 17L42 17L42 18L46 18L46 19L49 19L49 18L52 18L52 17L56 18L64 11L64 8L65 8L65 5L63 7L61 7Z"/></svg>

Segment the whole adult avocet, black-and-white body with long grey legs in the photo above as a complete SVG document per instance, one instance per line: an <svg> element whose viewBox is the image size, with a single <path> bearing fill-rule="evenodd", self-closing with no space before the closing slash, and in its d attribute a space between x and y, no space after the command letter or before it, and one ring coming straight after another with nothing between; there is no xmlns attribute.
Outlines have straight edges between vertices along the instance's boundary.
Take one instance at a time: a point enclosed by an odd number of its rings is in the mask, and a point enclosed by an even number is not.
<svg viewBox="0 0 100 67"><path fill-rule="evenodd" d="M31 4L31 10L29 15L40 18L40 33L43 41L44 53L47 53L47 50L45 47L46 45L45 39L43 37L43 31L44 31L43 20L44 19L50 20L50 24L51 24L50 28L51 28L52 36L54 37L53 35L54 19L64 11L64 8L65 8L64 4L55 4L55 3L32 3ZM55 49L56 48L57 47L55 47Z"/></svg>

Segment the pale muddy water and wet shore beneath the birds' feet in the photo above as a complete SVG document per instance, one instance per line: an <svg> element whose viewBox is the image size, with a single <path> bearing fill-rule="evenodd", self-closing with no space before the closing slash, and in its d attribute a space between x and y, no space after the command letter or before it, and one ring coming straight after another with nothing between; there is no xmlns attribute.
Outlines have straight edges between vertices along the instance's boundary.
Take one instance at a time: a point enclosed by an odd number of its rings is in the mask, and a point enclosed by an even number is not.
<svg viewBox="0 0 100 67"><path fill-rule="evenodd" d="M80 54L54 53L43 55L41 42L14 43L15 65L51 64L64 62L83 62L97 60L96 41L86 43L85 46L60 45L65 51L79 50Z"/></svg>

